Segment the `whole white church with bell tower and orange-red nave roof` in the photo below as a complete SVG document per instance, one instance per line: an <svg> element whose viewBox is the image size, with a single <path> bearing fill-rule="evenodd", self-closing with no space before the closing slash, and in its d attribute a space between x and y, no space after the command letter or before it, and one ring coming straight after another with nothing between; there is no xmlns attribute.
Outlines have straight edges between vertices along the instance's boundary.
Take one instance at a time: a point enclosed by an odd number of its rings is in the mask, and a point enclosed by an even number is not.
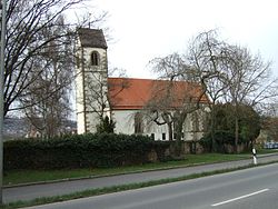
<svg viewBox="0 0 278 209"><path fill-rule="evenodd" d="M186 116L183 140L198 140L206 129L208 98L201 87L186 81L108 78L107 42L102 30L79 29L77 40L78 133L96 132L100 118L116 122L115 132L148 135L155 140L175 139L175 121L185 108L200 107Z"/></svg>

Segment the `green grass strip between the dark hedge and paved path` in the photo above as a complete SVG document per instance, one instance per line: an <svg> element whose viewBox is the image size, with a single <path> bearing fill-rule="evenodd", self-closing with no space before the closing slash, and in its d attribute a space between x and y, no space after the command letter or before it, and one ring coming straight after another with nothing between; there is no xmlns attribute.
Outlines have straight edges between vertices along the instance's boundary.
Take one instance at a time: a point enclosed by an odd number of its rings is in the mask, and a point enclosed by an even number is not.
<svg viewBox="0 0 278 209"><path fill-rule="evenodd" d="M18 183L49 181L59 179L70 179L80 177L97 177L127 172L141 172L153 169L167 169L175 167L188 167L199 163L212 163L231 160L240 160L251 158L247 155L187 155L185 160L146 163L142 166L119 167L119 168L90 168L90 169L71 169L71 170L13 170L4 172L3 185L12 186Z"/></svg>

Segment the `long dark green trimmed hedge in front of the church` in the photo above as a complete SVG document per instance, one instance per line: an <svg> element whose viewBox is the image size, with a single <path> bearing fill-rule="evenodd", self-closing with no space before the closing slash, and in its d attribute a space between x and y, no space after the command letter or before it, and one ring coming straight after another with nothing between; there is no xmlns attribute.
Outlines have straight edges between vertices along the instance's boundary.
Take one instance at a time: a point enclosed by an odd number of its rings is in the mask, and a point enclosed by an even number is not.
<svg viewBox="0 0 278 209"><path fill-rule="evenodd" d="M77 135L49 140L4 142L4 170L118 167L148 162L155 149L165 159L169 143L146 136Z"/></svg>

